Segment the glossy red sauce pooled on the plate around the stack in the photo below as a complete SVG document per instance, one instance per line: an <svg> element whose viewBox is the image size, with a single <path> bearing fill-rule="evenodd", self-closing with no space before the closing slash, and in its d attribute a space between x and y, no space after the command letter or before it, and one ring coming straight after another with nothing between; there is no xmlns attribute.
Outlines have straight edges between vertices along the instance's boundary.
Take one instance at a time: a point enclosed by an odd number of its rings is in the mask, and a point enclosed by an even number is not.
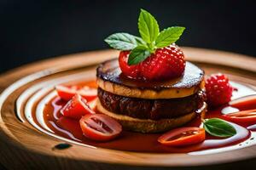
<svg viewBox="0 0 256 170"><path fill-rule="evenodd" d="M95 82L85 83L90 87L95 88ZM238 89L239 90L239 89ZM236 128L236 135L223 139L212 137L207 134L207 138L201 144L194 144L187 147L172 148L165 146L157 142L157 139L162 133L133 133L128 131L123 131L119 138L113 139L108 142L96 142L90 139L86 139L79 127L79 121L61 116L60 108L65 105L66 102L61 100L59 97L52 99L48 105L44 108L44 121L50 129L52 129L55 134L67 139L73 139L84 144L90 144L96 147L108 148L113 150L129 150L138 152L157 152L157 153L188 153L195 150L207 150L212 148L220 148L224 146L229 146L233 144L240 144L242 141L248 139L251 135L251 131L247 130L250 124L235 124L232 125ZM220 107L214 111L208 111L205 118L219 117L224 119L222 116L222 109L228 105ZM236 106L236 109L243 111L249 109L256 109L256 101L250 101L244 103L243 105ZM199 127L201 125L201 117L195 118L194 121L189 122L184 127ZM256 130L256 125L250 130Z"/></svg>

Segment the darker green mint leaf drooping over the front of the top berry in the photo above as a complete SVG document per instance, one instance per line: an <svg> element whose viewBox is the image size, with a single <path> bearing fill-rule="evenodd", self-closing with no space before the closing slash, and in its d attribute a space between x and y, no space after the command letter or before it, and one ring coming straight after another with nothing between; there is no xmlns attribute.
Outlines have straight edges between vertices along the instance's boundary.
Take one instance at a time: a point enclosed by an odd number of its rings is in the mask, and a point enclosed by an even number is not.
<svg viewBox="0 0 256 170"><path fill-rule="evenodd" d="M128 58L128 65L137 65L138 63L142 62L144 59L150 55L147 47L144 46L137 46L131 50L131 54Z"/></svg>

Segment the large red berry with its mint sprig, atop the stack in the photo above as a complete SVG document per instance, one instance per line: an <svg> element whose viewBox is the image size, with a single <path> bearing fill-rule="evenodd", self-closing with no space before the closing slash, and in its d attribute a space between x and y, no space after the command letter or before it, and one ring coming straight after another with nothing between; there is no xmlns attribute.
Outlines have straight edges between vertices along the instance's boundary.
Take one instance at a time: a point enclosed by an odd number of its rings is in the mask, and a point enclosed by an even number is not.
<svg viewBox="0 0 256 170"><path fill-rule="evenodd" d="M105 39L110 47L121 50L119 67L126 77L166 80L183 75L184 55L174 44L184 27L172 26L160 31L154 16L141 9L138 30L141 37L115 33Z"/></svg>

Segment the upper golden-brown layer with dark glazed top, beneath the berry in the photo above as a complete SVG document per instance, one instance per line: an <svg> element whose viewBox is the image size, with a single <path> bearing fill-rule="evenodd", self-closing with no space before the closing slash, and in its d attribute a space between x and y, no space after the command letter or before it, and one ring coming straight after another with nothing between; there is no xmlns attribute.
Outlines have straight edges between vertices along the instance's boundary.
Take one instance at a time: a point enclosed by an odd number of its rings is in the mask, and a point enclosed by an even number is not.
<svg viewBox="0 0 256 170"><path fill-rule="evenodd" d="M117 59L99 65L96 76L99 88L131 98L183 98L204 88L204 71L189 62L186 62L183 77L165 82L145 82L127 78L121 74Z"/></svg>

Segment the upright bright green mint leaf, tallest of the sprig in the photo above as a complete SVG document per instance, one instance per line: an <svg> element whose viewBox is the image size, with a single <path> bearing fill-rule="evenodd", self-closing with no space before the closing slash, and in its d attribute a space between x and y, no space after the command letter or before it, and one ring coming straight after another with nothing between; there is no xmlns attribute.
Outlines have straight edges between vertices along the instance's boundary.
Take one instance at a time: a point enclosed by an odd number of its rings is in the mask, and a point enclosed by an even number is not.
<svg viewBox="0 0 256 170"><path fill-rule="evenodd" d="M138 19L138 29L141 37L145 42L152 43L159 35L159 26L152 14L149 14L146 10L141 9L141 13Z"/></svg>

